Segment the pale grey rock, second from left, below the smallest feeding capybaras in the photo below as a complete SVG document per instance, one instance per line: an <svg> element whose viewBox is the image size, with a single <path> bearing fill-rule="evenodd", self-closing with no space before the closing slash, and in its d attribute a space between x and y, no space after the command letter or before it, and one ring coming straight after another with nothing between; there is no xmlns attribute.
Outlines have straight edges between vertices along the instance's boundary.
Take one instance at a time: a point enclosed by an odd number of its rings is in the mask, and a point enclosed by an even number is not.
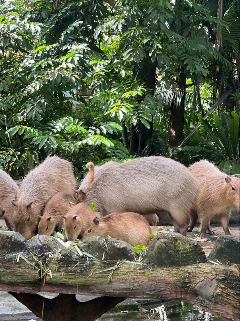
<svg viewBox="0 0 240 321"><path fill-rule="evenodd" d="M64 248L63 245L58 242L52 236L48 235L36 235L32 237L29 241L29 252L37 253L37 254L44 254L44 253L51 253L55 252L55 250L61 250Z"/></svg>

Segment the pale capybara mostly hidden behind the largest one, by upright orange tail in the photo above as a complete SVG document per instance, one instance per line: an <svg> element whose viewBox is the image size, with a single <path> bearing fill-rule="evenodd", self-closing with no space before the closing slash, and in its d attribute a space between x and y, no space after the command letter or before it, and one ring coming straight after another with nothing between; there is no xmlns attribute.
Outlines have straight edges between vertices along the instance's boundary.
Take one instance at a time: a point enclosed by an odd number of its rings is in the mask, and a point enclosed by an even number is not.
<svg viewBox="0 0 240 321"><path fill-rule="evenodd" d="M79 191L85 191L88 186L92 184L92 181L94 179L97 179L102 173L104 173L109 168L114 168L119 166L120 163L116 161L108 161L107 163L101 165L101 166L94 166L92 162L87 163L86 167L90 169L90 171L87 173L87 175L84 176L83 180L81 181L81 184L79 188L76 190L76 201L77 203L81 202L81 197L79 196Z"/></svg>

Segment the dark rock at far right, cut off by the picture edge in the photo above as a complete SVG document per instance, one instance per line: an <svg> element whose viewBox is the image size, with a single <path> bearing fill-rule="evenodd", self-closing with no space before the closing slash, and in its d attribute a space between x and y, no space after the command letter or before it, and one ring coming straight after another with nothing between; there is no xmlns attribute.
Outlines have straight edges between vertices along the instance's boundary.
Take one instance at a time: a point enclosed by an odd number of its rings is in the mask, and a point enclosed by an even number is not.
<svg viewBox="0 0 240 321"><path fill-rule="evenodd" d="M208 259L222 264L239 264L240 239L232 235L221 235L214 243Z"/></svg>

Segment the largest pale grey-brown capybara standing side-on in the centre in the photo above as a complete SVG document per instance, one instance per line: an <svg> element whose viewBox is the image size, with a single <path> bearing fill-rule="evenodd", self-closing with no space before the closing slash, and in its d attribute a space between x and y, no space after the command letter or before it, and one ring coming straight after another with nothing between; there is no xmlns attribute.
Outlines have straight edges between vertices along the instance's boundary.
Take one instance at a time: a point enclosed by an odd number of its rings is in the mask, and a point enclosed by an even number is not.
<svg viewBox="0 0 240 321"><path fill-rule="evenodd" d="M103 172L78 202L95 201L103 216L114 212L170 214L174 231L186 235L188 214L196 204L198 182L189 170L165 157L145 157L119 164Z"/></svg>

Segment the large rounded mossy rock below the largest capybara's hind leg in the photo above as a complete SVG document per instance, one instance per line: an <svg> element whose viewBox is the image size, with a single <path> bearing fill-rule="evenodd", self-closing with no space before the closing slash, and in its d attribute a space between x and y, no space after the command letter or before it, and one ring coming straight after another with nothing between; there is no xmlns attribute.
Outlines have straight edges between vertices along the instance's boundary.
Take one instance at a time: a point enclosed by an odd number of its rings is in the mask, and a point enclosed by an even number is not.
<svg viewBox="0 0 240 321"><path fill-rule="evenodd" d="M151 241L144 261L152 266L181 266L204 263L203 248L179 233L160 233Z"/></svg>

